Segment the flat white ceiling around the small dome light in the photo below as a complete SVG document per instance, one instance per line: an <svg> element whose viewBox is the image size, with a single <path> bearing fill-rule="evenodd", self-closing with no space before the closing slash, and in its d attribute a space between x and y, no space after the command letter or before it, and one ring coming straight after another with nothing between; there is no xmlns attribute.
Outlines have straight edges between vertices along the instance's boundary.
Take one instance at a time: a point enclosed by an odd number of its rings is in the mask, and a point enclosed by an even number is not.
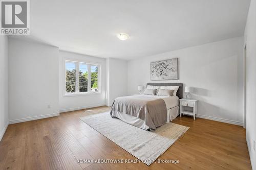
<svg viewBox="0 0 256 170"><path fill-rule="evenodd" d="M32 0L30 39L134 59L242 36L249 0ZM120 41L116 35L127 33Z"/></svg>

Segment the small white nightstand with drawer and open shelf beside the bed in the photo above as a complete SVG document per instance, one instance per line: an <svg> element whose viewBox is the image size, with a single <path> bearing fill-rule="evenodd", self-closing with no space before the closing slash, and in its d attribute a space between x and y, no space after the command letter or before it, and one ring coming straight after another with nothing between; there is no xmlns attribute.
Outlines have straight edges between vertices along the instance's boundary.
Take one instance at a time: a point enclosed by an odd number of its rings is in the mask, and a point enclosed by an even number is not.
<svg viewBox="0 0 256 170"><path fill-rule="evenodd" d="M181 99L180 100L180 116L181 114L197 115L198 100L197 99Z"/></svg>

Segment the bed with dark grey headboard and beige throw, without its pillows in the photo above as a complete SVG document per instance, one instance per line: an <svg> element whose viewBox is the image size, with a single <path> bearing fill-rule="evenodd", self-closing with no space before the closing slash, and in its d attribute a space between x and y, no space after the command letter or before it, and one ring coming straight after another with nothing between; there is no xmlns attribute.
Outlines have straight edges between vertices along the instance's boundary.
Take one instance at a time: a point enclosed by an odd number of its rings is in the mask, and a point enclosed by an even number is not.
<svg viewBox="0 0 256 170"><path fill-rule="evenodd" d="M148 131L175 119L179 115L183 84L147 83L149 86L179 86L179 89L172 96L136 94L116 98L111 107L111 116Z"/></svg>

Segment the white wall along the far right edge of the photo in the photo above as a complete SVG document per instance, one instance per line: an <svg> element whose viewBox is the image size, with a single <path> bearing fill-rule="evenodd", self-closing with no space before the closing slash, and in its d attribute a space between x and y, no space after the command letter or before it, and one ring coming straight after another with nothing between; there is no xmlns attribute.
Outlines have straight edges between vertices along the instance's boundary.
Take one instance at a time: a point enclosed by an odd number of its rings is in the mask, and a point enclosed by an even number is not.
<svg viewBox="0 0 256 170"><path fill-rule="evenodd" d="M252 169L256 169L256 1L251 0L245 33L247 41L247 115L246 141L251 159Z"/></svg>

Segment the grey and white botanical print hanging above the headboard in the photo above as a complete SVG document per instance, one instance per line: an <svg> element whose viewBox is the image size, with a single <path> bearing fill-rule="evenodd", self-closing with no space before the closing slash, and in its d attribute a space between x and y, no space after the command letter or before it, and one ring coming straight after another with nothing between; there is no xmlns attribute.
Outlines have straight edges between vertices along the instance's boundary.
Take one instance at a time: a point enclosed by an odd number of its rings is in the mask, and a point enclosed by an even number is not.
<svg viewBox="0 0 256 170"><path fill-rule="evenodd" d="M178 80L178 58L150 63L151 80Z"/></svg>

